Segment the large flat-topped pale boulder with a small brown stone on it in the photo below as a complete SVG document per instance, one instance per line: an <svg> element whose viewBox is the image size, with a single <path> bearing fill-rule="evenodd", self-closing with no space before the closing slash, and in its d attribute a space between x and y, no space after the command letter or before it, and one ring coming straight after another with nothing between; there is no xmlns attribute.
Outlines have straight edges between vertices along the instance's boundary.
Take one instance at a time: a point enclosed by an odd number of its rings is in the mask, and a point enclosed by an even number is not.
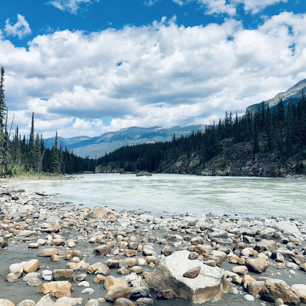
<svg viewBox="0 0 306 306"><path fill-rule="evenodd" d="M223 294L224 270L188 259L189 254L187 250L177 251L160 259L155 269L146 277L148 285L159 290L172 289L178 297L196 304L220 300ZM196 266L201 267L197 277L183 277L186 271Z"/></svg>

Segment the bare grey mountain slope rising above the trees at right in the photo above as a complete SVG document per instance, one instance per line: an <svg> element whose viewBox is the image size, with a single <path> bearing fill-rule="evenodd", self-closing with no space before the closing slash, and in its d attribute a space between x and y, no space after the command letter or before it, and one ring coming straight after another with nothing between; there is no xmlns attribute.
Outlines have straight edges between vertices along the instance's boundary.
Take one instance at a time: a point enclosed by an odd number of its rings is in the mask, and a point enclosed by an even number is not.
<svg viewBox="0 0 306 306"><path fill-rule="evenodd" d="M306 79L300 80L297 84L288 88L286 91L278 93L274 98L264 101L264 104L267 105L267 103L269 103L270 108L273 108L278 103L279 99L282 98L285 110L287 110L289 102L292 104L297 104L299 102L302 89L306 91ZM261 109L261 106L262 102L253 104L248 106L246 111L252 110L254 113L258 107Z"/></svg>

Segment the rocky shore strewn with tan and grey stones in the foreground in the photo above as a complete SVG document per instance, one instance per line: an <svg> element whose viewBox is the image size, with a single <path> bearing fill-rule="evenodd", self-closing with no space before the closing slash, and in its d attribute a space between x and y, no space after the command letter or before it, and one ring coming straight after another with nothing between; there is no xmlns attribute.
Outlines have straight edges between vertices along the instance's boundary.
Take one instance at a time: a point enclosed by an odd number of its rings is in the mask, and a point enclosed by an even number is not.
<svg viewBox="0 0 306 306"><path fill-rule="evenodd" d="M293 219L67 209L2 180L0 306L300 305L305 240Z"/></svg>

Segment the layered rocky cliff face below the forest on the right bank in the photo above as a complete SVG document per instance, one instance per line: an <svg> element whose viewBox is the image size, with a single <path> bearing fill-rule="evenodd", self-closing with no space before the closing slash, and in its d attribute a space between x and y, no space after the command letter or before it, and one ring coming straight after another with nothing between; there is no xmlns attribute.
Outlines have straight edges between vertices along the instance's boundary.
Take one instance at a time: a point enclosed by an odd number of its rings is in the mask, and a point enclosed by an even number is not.
<svg viewBox="0 0 306 306"><path fill-rule="evenodd" d="M205 164L201 163L198 153L193 153L190 156L183 155L176 162L164 166L162 172L211 176L286 177L296 174L296 166L300 162L296 156L282 162L273 154L254 155L250 143L233 144L231 140L224 140L221 148L221 153ZM305 168L306 160L301 162Z"/></svg>

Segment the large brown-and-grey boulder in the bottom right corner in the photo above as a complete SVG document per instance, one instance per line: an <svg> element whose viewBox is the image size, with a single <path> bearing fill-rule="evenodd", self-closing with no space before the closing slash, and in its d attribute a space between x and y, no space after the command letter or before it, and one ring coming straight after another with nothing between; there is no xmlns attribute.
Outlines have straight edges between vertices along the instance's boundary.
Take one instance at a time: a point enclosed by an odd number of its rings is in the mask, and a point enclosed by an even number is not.
<svg viewBox="0 0 306 306"><path fill-rule="evenodd" d="M259 292L261 298L274 303L281 298L287 305L299 305L300 299L291 288L281 279L266 279L265 285Z"/></svg>

